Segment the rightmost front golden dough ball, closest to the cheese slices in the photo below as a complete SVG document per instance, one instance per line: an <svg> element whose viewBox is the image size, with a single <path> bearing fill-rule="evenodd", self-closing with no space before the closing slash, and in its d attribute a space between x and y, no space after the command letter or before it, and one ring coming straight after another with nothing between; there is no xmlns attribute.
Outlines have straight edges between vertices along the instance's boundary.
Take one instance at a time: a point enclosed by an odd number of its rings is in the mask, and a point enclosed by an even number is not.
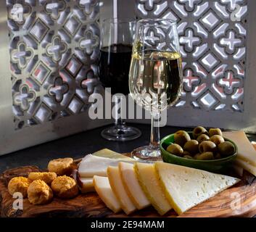
<svg viewBox="0 0 256 232"><path fill-rule="evenodd" d="M73 198L78 195L78 185L67 175L58 176L51 183L51 189L59 198Z"/></svg>

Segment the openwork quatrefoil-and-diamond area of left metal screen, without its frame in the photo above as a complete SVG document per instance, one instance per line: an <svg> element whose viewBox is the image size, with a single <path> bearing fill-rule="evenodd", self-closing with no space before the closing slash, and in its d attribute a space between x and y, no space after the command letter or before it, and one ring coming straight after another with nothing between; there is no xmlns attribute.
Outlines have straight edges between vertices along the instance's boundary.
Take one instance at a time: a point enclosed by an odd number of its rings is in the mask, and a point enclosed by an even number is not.
<svg viewBox="0 0 256 232"><path fill-rule="evenodd" d="M15 129L77 115L97 91L99 1L7 0Z"/></svg>

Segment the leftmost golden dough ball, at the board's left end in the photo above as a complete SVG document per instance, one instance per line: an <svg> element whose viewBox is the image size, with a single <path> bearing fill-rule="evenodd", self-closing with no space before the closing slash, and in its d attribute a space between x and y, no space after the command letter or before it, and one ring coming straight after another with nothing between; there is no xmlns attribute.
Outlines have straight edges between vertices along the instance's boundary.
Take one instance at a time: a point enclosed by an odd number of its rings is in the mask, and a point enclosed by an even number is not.
<svg viewBox="0 0 256 232"><path fill-rule="evenodd" d="M28 196L28 186L30 183L31 181L28 178L22 176L12 178L8 183L9 194L13 195L20 192L23 198L26 198Z"/></svg>

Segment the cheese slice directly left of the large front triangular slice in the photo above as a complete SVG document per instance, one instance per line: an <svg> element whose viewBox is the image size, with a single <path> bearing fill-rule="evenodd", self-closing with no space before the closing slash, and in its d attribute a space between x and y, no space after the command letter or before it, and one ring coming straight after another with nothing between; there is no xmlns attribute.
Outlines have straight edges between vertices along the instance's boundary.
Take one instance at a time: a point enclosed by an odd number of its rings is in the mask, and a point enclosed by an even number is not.
<svg viewBox="0 0 256 232"><path fill-rule="evenodd" d="M160 186L154 165L137 162L134 168L141 188L149 199L149 202L160 215L165 215L172 207Z"/></svg>

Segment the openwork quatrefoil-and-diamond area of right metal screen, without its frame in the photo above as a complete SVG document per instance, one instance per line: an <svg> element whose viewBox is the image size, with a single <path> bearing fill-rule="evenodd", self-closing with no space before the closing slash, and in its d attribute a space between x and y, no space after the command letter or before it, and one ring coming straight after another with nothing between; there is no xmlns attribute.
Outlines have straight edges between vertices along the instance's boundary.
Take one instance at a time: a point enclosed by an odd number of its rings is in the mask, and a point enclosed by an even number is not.
<svg viewBox="0 0 256 232"><path fill-rule="evenodd" d="M176 107L244 111L247 0L136 0L136 5L139 18L178 23L184 78Z"/></svg>

